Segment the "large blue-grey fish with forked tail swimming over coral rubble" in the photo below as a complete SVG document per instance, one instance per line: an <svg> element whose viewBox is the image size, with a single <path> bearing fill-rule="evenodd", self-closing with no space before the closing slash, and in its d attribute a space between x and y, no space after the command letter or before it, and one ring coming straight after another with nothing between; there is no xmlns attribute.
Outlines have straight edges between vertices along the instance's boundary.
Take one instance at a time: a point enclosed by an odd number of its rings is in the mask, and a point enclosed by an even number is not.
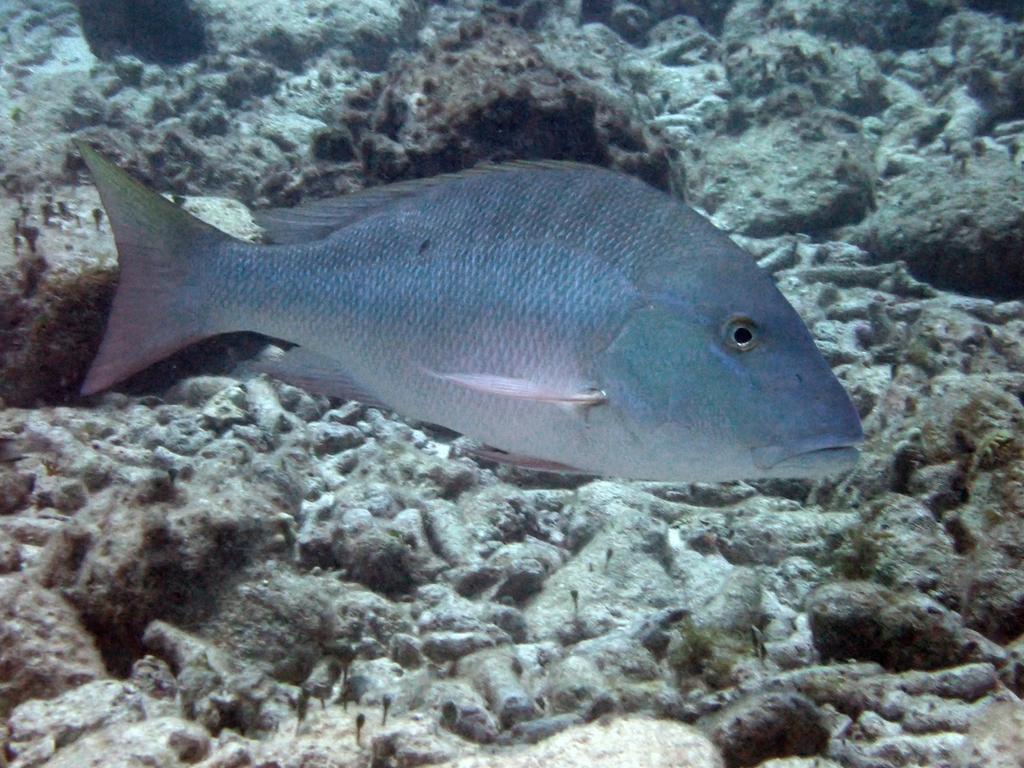
<svg viewBox="0 0 1024 768"><path fill-rule="evenodd" d="M252 331L294 345L272 376L522 467L676 482L857 461L857 410L770 275L639 179L470 169L267 211L254 244L77 146L120 264L84 395Z"/></svg>

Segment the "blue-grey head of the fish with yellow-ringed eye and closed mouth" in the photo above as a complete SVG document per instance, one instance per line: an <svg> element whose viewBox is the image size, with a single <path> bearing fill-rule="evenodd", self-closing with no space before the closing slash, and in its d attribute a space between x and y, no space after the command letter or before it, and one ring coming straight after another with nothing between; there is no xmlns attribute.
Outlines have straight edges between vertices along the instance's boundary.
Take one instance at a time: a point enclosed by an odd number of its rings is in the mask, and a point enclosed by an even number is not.
<svg viewBox="0 0 1024 768"><path fill-rule="evenodd" d="M612 418L630 434L626 473L819 477L856 463L853 402L793 306L742 258L725 282L719 271L645 289L598 360Z"/></svg>

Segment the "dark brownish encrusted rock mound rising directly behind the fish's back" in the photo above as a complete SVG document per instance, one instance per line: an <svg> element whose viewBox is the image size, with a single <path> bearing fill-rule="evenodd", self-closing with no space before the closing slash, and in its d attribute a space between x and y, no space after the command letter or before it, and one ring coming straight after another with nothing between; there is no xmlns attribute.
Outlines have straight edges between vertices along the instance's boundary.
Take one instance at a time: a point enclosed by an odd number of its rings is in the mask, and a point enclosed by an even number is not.
<svg viewBox="0 0 1024 768"><path fill-rule="evenodd" d="M391 74L372 114L347 120L368 178L393 181L486 160L610 166L660 188L667 150L627 104L553 65L499 14L461 26ZM364 134L364 129L370 132Z"/></svg>

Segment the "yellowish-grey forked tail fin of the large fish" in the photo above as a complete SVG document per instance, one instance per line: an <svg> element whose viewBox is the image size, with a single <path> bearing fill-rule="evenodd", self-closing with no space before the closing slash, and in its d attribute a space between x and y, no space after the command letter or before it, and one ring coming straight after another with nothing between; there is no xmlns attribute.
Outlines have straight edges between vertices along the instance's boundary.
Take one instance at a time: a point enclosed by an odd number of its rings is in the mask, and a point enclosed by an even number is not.
<svg viewBox="0 0 1024 768"><path fill-rule="evenodd" d="M85 142L75 144L106 209L121 267L106 331L82 384L88 395L219 332L204 310L202 264L210 247L232 238L148 189Z"/></svg>

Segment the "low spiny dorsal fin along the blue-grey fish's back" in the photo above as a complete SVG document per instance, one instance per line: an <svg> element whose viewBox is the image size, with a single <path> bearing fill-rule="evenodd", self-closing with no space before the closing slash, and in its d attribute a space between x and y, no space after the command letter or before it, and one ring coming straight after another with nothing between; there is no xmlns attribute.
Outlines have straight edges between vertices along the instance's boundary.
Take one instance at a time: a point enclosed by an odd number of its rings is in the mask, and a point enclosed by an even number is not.
<svg viewBox="0 0 1024 768"><path fill-rule="evenodd" d="M331 232L361 221L396 203L415 198L449 181L487 173L568 170L571 168L594 168L594 166L557 160L517 160L502 164L487 163L457 173L444 173L411 181L396 181L384 186L372 186L340 198L325 198L295 208L270 208L256 211L253 213L253 217L263 227L271 243L279 245L310 243L323 240Z"/></svg>

